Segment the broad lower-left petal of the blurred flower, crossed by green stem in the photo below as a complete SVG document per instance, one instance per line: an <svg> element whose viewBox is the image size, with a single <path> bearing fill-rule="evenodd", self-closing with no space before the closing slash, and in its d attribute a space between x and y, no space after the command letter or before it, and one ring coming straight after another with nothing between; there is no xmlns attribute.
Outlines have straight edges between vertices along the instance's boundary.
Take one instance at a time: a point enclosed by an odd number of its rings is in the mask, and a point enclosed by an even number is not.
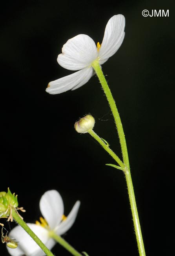
<svg viewBox="0 0 175 256"><path fill-rule="evenodd" d="M27 225L36 234L36 236L41 239L41 241L46 245L48 249L51 249L55 245L55 241L48 237L48 231L45 228L31 223L27 223ZM13 256L46 255L21 226L16 226L15 228L13 228L8 236L13 237L15 241L18 242L18 247L16 249L11 249L7 247L9 254Z"/></svg>

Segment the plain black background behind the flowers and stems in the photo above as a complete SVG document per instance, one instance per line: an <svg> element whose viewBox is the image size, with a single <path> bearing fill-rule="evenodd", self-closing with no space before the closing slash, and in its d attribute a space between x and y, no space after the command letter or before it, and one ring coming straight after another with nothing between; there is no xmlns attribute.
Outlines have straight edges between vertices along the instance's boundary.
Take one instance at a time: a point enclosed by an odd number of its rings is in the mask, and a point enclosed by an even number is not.
<svg viewBox="0 0 175 256"><path fill-rule="evenodd" d="M93 76L75 91L49 95L47 83L71 74L57 63L66 41L80 33L101 42L108 20L126 18L118 52L102 65L128 145L146 255L173 251L174 13L173 1L6 1L1 8L1 189L18 194L26 222L40 217L39 200L57 189L65 214L81 201L63 236L89 256L135 256L137 244L121 171L74 123L91 113L95 132L121 157L113 117ZM142 10L169 9L169 17ZM3 220L1 220L3 222ZM4 221L5 223L5 221ZM9 227L5 224L8 230ZM11 223L11 228L15 223ZM60 245L55 255L70 255ZM8 255L4 244L0 254Z"/></svg>

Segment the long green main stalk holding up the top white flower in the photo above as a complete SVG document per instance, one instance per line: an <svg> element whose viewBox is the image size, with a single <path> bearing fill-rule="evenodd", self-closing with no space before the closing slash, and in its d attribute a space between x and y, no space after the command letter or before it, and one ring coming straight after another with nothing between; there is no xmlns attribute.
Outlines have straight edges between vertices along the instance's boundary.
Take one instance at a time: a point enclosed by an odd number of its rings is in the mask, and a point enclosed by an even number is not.
<svg viewBox="0 0 175 256"><path fill-rule="evenodd" d="M109 106L113 113L113 117L114 117L115 124L117 127L118 137L120 140L123 162L125 165L124 174L126 177L126 184L128 187L129 202L130 202L131 212L132 212L132 216L133 216L133 224L134 224L134 229L135 229L135 235L136 235L139 255L146 256L145 249L144 249L144 242L143 242L143 238L142 238L142 232L141 232L141 228L140 228L139 214L137 211L137 204L135 201L135 194L134 194L133 183L132 183L130 167L129 167L128 150L127 150L127 146L126 146L126 139L125 139L125 135L124 135L122 122L121 122L121 119L120 119L120 116L119 116L119 113L117 110L117 106L115 104L115 100L113 99L112 93L109 89L108 83L106 82L106 79L104 77L104 74L102 72L100 64L98 62L98 59L93 61L92 67L98 76L98 79L102 85L102 88L103 88L106 98L108 100Z"/></svg>

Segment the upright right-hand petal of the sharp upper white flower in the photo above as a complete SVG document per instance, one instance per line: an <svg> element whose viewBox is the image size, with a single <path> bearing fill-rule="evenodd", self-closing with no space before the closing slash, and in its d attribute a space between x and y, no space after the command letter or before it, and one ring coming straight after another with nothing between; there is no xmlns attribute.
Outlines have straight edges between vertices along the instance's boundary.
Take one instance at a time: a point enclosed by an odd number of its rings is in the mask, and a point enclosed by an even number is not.
<svg viewBox="0 0 175 256"><path fill-rule="evenodd" d="M117 52L124 39L124 27L125 18L122 14L114 15L109 19L104 32L102 45L98 52L100 64L103 64Z"/></svg>

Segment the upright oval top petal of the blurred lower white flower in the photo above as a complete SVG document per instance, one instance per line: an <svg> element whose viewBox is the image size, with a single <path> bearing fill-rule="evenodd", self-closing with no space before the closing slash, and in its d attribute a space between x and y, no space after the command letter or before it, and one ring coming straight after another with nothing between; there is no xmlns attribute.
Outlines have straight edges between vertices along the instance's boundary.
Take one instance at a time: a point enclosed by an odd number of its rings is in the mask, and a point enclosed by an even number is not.
<svg viewBox="0 0 175 256"><path fill-rule="evenodd" d="M42 195L40 211L51 229L54 229L60 223L64 213L64 205L57 190L49 190Z"/></svg>

